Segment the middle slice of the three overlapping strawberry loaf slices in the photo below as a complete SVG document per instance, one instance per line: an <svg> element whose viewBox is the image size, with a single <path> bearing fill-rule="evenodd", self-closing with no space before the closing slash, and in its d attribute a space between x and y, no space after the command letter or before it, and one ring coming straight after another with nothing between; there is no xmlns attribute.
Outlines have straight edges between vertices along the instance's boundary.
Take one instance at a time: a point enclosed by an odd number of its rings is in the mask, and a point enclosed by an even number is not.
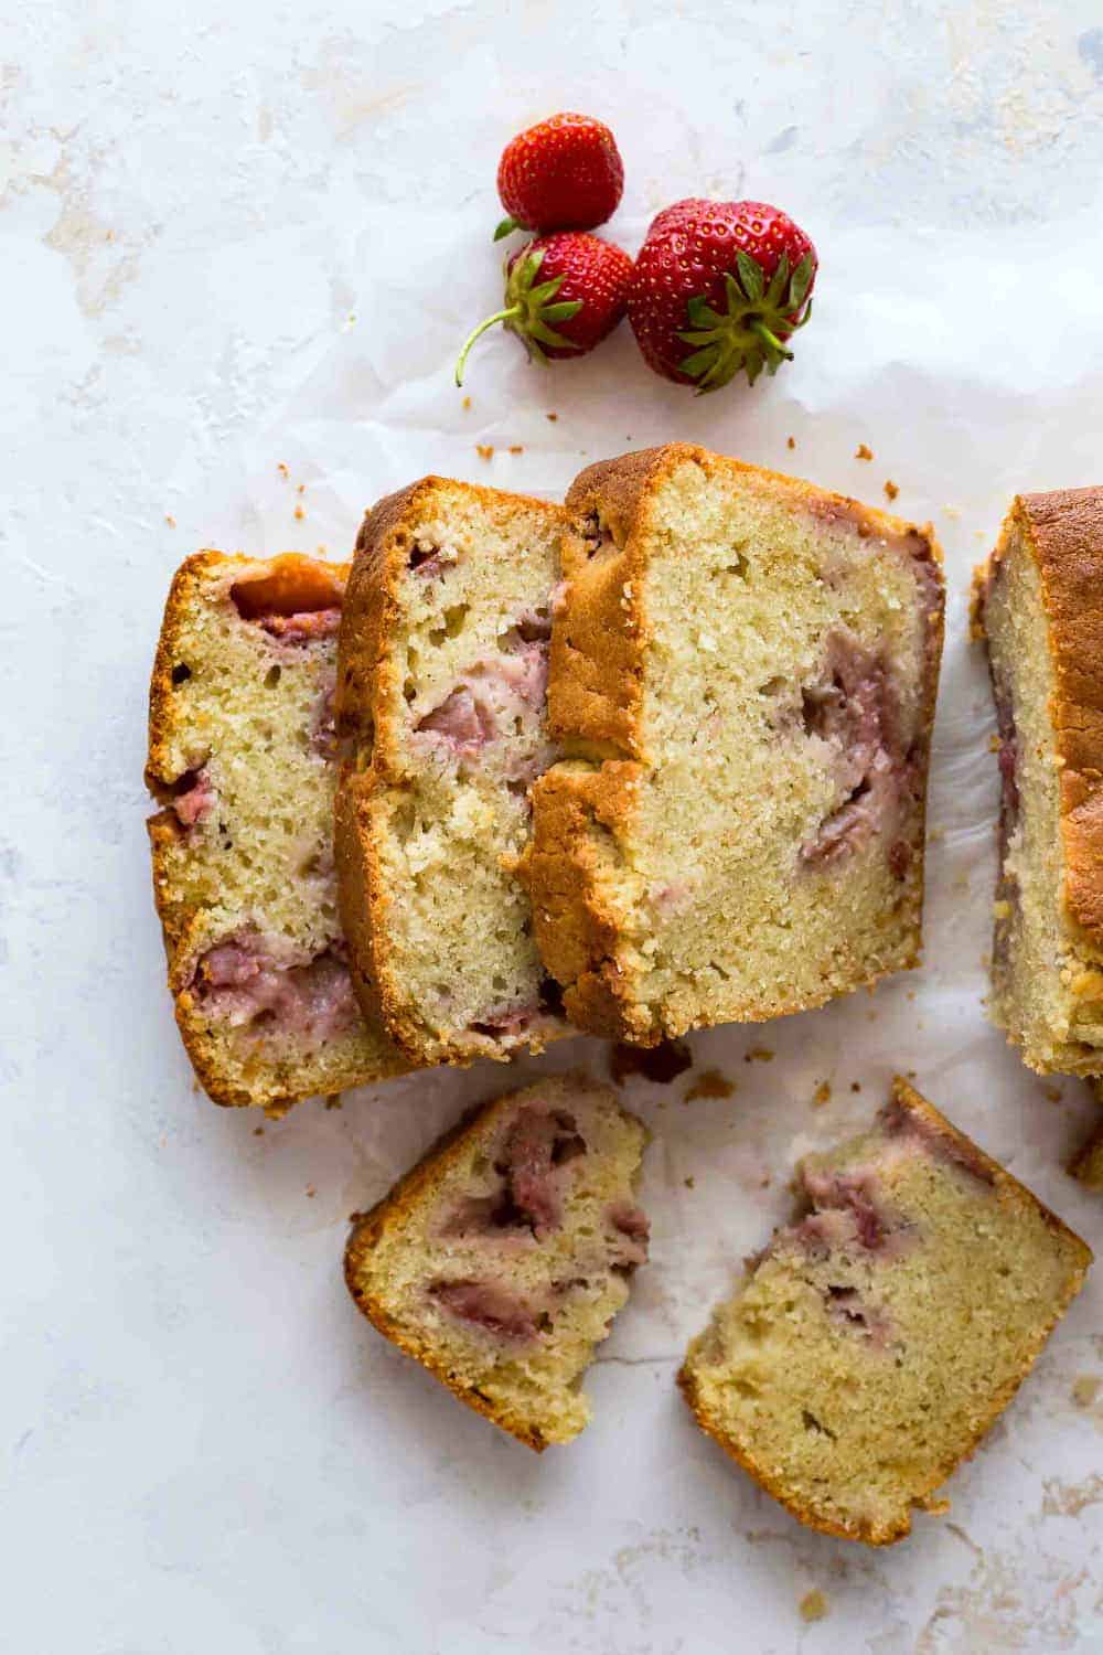
<svg viewBox="0 0 1103 1655"><path fill-rule="evenodd" d="M336 851L357 991L417 1063L559 1033L513 861L551 756L562 511L427 477L380 501L341 622Z"/></svg>

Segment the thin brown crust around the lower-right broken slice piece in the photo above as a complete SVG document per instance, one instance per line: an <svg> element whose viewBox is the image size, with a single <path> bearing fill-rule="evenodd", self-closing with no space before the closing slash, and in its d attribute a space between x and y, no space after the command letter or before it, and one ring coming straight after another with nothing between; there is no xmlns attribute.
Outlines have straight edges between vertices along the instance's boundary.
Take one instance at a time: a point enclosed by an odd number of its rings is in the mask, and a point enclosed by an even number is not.
<svg viewBox="0 0 1103 1655"><path fill-rule="evenodd" d="M1053 1306L1053 1314L1048 1322L1039 1331L1022 1369L992 1394L987 1412L972 1422L974 1432L969 1446L964 1453L944 1455L928 1475L926 1486L913 1496L913 1506L919 1509L934 1509L938 1506L936 1490L943 1486L959 1465L964 1465L966 1460L972 1458L981 1445L981 1440L992 1428L999 1415L1019 1390L1022 1380L1034 1367L1045 1341L1065 1314L1068 1304L1080 1293L1085 1273L1091 1264L1091 1250L1057 1216L1057 1213L1050 1211L1048 1206L1039 1202L1039 1198L1027 1190L1025 1185L1019 1183L1019 1180L1014 1178L1004 1167L1000 1167L999 1162L992 1160L991 1155L986 1155L984 1150L972 1142L972 1139L966 1137L966 1134L948 1120L946 1115L943 1115L933 1104L929 1104L926 1097L916 1092L916 1089L910 1086L903 1076L893 1077L890 1102L914 1117L924 1137L943 1142L951 1160L979 1172L984 1180L992 1185L992 1193L997 1202L1034 1208L1034 1211L1043 1218L1047 1226L1062 1238L1077 1259L1068 1271L1067 1289L1060 1301ZM815 1511L799 1498L794 1498L789 1486L772 1471L769 1465L756 1460L752 1450L742 1448L724 1432L723 1423L713 1417L704 1403L696 1377L690 1370L688 1364L683 1364L678 1374L678 1385L706 1437L711 1437L716 1443L719 1443L724 1453L741 1465L742 1470L747 1471L767 1494L772 1494L779 1504L785 1506L785 1509L790 1511L799 1523L804 1523L810 1529L819 1529L822 1534L835 1534L840 1539L863 1541L867 1546L891 1546L895 1541L905 1539L905 1536L911 1533L910 1511L901 1513L896 1523L883 1526L875 1526L873 1523L833 1523L830 1518L825 1518L820 1511Z"/></svg>

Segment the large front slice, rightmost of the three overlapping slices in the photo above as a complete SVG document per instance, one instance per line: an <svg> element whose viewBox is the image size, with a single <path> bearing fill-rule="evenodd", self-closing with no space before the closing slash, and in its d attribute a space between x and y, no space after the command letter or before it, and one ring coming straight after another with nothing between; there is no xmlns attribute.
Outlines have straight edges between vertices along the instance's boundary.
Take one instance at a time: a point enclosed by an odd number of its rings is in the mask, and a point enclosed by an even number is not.
<svg viewBox="0 0 1103 1655"><path fill-rule="evenodd" d="M929 530L686 444L572 485L521 874L574 1023L652 1044L914 965Z"/></svg>

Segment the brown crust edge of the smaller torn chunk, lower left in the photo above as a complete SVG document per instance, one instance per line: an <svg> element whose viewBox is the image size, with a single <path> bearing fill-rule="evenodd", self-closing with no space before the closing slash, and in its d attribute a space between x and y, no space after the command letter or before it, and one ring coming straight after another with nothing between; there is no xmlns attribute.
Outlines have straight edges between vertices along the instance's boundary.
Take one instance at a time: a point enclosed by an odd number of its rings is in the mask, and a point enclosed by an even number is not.
<svg viewBox="0 0 1103 1655"><path fill-rule="evenodd" d="M405 1220L417 1215L418 1210L433 1205L453 1167L463 1160L465 1152L476 1145L478 1140L485 1139L488 1132L493 1132L496 1122L514 1111L518 1104L526 1102L529 1097L551 1097L556 1104L569 1109L572 1097L577 1096L579 1091L600 1097L604 1104L615 1111L620 1120L637 1134L638 1175L638 1155L642 1155L647 1145L648 1132L637 1115L618 1102L610 1087L592 1082L584 1074L554 1076L546 1081L539 1081L521 1092L508 1092L491 1102L473 1104L466 1109L456 1124L443 1132L435 1144L428 1147L417 1165L413 1165L410 1172L407 1172L394 1185L394 1188L375 1203L375 1206L365 1213L352 1215L352 1230L344 1253L346 1286L359 1311L372 1322L372 1326L394 1346L403 1350L405 1355L425 1367L468 1408L481 1413L485 1418L491 1420L511 1437L516 1437L518 1442L523 1442L536 1453L542 1453L549 1443L562 1438L557 1438L547 1425L541 1427L541 1423L531 1417L524 1417L519 1410L511 1408L508 1403L486 1395L478 1389L478 1385L471 1384L470 1379L465 1379L456 1367L450 1364L446 1349L433 1346L433 1342L427 1337L418 1337L417 1326L394 1316L382 1302L380 1294L372 1293L370 1288L365 1286L365 1264L387 1231L400 1226Z"/></svg>

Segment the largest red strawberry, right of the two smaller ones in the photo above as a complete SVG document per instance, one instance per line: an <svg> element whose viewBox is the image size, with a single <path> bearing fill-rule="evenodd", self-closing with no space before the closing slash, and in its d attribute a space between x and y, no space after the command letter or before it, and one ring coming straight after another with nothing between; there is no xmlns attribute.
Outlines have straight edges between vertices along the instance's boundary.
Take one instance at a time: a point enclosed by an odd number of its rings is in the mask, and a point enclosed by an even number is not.
<svg viewBox="0 0 1103 1655"><path fill-rule="evenodd" d="M675 202L640 248L628 321L657 374L716 391L742 369L754 384L792 361L784 341L812 314L817 268L812 242L777 207Z"/></svg>

